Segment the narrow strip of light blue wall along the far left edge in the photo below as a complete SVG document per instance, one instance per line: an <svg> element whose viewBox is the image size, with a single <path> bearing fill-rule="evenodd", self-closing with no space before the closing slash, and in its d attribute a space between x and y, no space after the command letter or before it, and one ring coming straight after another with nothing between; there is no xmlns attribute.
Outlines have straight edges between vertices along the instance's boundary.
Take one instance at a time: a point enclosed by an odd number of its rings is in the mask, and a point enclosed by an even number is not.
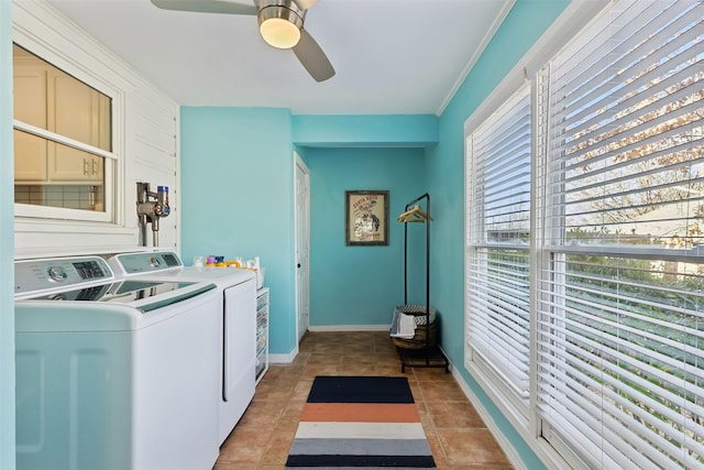
<svg viewBox="0 0 704 470"><path fill-rule="evenodd" d="M14 195L11 3L0 0L0 469L14 468Z"/></svg>

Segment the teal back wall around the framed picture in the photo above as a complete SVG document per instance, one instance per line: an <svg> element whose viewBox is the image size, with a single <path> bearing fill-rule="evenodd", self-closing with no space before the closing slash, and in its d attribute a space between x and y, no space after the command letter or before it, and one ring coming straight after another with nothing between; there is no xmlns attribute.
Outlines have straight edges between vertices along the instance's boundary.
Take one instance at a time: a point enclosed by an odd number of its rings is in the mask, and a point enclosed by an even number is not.
<svg viewBox="0 0 704 470"><path fill-rule="evenodd" d="M396 218L427 192L424 150L308 149L301 156L311 182L310 325L388 325L404 302L404 226ZM346 247L345 190L369 189L389 192L388 247ZM417 234L425 227L410 228L417 229L409 232L416 234L409 264L417 273L425 255ZM409 282L416 300L420 281L415 275Z"/></svg>

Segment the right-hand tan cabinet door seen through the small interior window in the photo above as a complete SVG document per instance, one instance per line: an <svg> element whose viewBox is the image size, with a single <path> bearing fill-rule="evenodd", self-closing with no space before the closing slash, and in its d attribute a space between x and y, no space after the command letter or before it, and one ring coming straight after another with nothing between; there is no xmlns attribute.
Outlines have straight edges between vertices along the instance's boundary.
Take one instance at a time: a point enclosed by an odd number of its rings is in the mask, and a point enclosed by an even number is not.
<svg viewBox="0 0 704 470"><path fill-rule="evenodd" d="M100 94L61 72L48 74L47 116L54 132L90 145L100 146ZM50 143L51 181L102 183L103 159Z"/></svg>

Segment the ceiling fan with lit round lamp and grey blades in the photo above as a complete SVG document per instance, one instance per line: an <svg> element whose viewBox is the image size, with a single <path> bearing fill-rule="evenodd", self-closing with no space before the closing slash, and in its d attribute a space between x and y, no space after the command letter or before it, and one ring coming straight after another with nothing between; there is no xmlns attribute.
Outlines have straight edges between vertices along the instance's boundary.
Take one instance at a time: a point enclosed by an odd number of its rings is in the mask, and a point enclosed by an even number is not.
<svg viewBox="0 0 704 470"><path fill-rule="evenodd" d="M254 0L254 4L228 0L151 1L164 10L256 15L264 41L274 47L292 48L316 81L334 75L326 53L304 29L306 12L317 0Z"/></svg>

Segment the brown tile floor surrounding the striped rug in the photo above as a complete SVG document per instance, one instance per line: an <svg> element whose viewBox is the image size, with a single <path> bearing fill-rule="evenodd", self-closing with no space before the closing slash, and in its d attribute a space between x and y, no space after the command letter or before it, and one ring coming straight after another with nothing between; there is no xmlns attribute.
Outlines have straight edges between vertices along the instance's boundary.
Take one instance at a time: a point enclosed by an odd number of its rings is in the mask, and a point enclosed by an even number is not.
<svg viewBox="0 0 704 470"><path fill-rule="evenodd" d="M215 470L283 469L316 375L402 375L387 332L308 332L290 365L273 364L220 448ZM451 374L406 368L438 469L512 466Z"/></svg>

